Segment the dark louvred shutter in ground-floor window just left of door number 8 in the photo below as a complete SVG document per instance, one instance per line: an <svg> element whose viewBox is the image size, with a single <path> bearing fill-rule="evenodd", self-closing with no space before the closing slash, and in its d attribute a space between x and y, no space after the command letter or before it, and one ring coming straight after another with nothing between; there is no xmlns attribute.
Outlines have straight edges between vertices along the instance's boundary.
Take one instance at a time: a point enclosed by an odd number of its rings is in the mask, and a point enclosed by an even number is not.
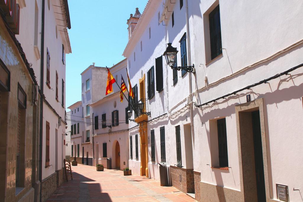
<svg viewBox="0 0 303 202"><path fill-rule="evenodd" d="M219 166L228 167L227 137L225 118L217 120L218 126L218 147L219 147Z"/></svg>

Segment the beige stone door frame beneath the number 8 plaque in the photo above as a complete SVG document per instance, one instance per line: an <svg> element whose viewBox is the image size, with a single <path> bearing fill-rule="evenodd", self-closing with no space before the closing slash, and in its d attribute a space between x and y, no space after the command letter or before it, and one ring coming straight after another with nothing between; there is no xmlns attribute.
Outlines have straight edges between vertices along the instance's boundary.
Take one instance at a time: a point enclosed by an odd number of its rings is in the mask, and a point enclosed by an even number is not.
<svg viewBox="0 0 303 202"><path fill-rule="evenodd" d="M261 141L262 141L262 152L263 152L263 166L264 166L264 180L265 180L265 193L266 193L266 201L271 201L271 197L273 197L273 187L271 187L271 183L269 183L269 175L268 175L268 155L270 154L268 151L269 145L267 145L267 132L265 130L265 110L264 110L264 101L263 98L256 99L254 101L246 102L243 104L238 104L235 106L235 114L236 114L236 123L237 123L237 140L238 140L238 158L239 158L239 173L240 173L240 188L243 197L243 201L245 200L246 194L251 194L251 189L244 188L244 179L247 174L245 174L245 169L243 169L242 164L242 151L241 147L244 148L244 145L241 144L241 133L240 133L240 122L239 122L239 113L240 112L250 112L257 111L260 112L260 125L261 125ZM243 137L242 137L243 138ZM243 151L245 152L245 151ZM244 173L244 174L243 174Z"/></svg>

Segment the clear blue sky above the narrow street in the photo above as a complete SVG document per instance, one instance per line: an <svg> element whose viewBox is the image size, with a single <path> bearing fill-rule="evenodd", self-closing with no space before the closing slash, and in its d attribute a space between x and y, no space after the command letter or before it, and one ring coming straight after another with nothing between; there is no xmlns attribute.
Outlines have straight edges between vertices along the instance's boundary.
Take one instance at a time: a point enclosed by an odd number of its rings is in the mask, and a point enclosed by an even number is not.
<svg viewBox="0 0 303 202"><path fill-rule="evenodd" d="M81 72L95 62L111 67L123 60L127 19L148 0L69 0L72 53L66 55L66 107L81 100ZM67 109L66 111L69 111Z"/></svg>

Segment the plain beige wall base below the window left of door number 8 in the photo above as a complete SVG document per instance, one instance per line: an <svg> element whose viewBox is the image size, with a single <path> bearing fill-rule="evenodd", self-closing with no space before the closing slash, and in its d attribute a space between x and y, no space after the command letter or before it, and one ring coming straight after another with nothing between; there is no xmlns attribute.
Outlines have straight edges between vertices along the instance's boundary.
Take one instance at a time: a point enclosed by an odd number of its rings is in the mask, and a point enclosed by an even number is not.
<svg viewBox="0 0 303 202"><path fill-rule="evenodd" d="M209 202L243 202L243 194L240 191L220 187L213 184L200 182L201 199L200 201Z"/></svg>

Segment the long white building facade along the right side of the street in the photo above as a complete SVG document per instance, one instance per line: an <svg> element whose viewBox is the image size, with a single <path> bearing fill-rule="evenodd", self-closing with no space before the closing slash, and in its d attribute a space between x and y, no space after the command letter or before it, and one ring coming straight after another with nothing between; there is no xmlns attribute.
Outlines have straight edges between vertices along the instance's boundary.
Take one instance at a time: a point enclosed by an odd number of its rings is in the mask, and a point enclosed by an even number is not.
<svg viewBox="0 0 303 202"><path fill-rule="evenodd" d="M129 167L160 180L165 161L169 183L198 201L300 201L302 8L148 1L123 53L151 112L129 124ZM166 64L167 43L195 73Z"/></svg>

